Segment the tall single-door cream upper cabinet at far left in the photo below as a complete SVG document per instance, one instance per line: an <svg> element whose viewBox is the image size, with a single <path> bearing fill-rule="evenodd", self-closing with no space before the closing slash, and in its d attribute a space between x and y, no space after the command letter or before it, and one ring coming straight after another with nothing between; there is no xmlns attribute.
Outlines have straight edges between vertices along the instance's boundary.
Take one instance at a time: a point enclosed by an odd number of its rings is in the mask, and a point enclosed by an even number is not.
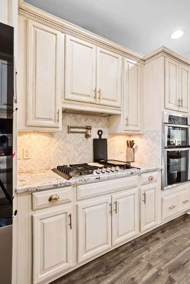
<svg viewBox="0 0 190 284"><path fill-rule="evenodd" d="M21 16L18 28L18 130L59 131L64 34Z"/></svg>

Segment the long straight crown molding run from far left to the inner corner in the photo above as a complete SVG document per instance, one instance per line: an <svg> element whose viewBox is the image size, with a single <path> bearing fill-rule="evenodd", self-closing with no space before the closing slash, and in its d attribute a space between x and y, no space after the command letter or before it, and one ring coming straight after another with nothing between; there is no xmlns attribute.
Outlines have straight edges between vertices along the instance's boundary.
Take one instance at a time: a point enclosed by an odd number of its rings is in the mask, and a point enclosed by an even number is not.
<svg viewBox="0 0 190 284"><path fill-rule="evenodd" d="M19 0L22 1L22 0ZM45 11L42 11L34 6L31 6L28 3L22 2L21 6L18 8L18 15L25 16L27 18L33 19L40 23L45 23L46 25L53 26L57 30L64 32L65 34L73 35L77 38L92 42L99 47L103 47L107 50L116 52L127 58L131 58L135 61L144 63L144 56L136 53L132 50L129 50L119 44L111 42L101 36L98 36L94 33L86 31L76 25L73 25L69 22L66 22L58 17L55 17Z"/></svg>

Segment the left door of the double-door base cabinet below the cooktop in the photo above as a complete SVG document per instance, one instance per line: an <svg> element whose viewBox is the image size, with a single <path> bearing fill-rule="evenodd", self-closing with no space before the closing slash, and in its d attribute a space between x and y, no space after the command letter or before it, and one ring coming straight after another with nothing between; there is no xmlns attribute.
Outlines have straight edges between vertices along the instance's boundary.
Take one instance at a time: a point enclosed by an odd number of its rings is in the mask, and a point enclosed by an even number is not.
<svg viewBox="0 0 190 284"><path fill-rule="evenodd" d="M77 205L78 262L111 247L111 197Z"/></svg>

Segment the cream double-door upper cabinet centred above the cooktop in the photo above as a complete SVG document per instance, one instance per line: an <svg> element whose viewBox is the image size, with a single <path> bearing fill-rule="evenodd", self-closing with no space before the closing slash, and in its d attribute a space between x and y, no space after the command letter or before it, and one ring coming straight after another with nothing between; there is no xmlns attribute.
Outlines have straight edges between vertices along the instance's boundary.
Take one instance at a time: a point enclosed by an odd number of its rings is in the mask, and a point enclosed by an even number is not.
<svg viewBox="0 0 190 284"><path fill-rule="evenodd" d="M121 56L66 35L63 108L121 113Z"/></svg>

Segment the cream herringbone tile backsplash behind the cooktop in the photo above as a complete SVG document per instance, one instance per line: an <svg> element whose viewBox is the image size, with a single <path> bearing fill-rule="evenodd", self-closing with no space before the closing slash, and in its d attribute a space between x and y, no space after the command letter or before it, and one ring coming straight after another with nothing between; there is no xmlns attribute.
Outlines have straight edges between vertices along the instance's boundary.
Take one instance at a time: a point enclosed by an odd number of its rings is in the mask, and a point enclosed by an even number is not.
<svg viewBox="0 0 190 284"><path fill-rule="evenodd" d="M113 135L109 134L108 117L64 113L62 120L61 132L18 132L18 148L31 150L31 159L18 159L18 172L93 162L93 139L99 138L99 129L103 131L102 138L107 138L108 159L126 161L126 140L134 140L135 162L161 165L160 130L145 131L143 135ZM92 137L68 133L68 125L91 126ZM120 153L120 145L124 146L124 153Z"/></svg>

